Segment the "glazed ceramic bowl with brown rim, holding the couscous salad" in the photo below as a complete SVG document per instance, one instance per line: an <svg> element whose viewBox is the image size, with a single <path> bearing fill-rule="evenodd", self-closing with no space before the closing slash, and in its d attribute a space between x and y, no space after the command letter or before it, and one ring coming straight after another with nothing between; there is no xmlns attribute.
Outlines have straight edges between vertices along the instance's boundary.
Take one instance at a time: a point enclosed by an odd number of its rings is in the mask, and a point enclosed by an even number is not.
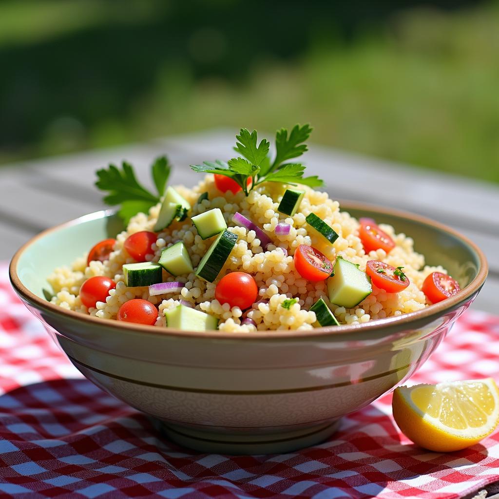
<svg viewBox="0 0 499 499"><path fill-rule="evenodd" d="M42 232L14 255L10 278L90 381L157 418L172 440L230 454L287 452L329 437L341 416L406 380L443 340L487 276L482 251L407 213L343 203L410 235L462 291L417 312L313 331L199 333L98 319L49 303L46 276L122 227L98 212Z"/></svg>

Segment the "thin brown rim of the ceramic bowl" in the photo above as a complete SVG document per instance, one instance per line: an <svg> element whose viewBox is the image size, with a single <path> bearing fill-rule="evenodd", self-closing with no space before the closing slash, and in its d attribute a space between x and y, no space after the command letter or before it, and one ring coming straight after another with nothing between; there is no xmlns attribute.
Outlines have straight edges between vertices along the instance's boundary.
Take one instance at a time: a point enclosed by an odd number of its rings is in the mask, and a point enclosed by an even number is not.
<svg viewBox="0 0 499 499"><path fill-rule="evenodd" d="M111 329L115 329L118 331L128 330L130 332L137 333L147 333L147 334L155 334L161 336L173 336L177 338L206 338L206 339L229 339L229 340L256 340L256 339L307 339L307 338L316 338L321 336L327 336L331 333L334 335L341 335L342 340L348 339L345 337L348 333L359 333L359 332L369 332L375 331L383 328L391 328L391 326L400 326L404 324L409 324L413 321L419 319L426 319L428 317L434 315L442 315L444 312L453 309L458 306L460 303L464 302L467 298L475 294L481 286L484 284L485 279L488 274L488 264L487 258L483 251L470 239L466 236L463 236L458 231L441 224L440 222L436 222L432 219L426 218L421 215L416 215L410 212L405 212L398 209L391 209L380 207L375 204L369 203L361 203L357 201L350 200L338 200L340 203L340 207L342 207L342 211L348 212L351 209L354 210L373 210L378 212L381 215L388 216L396 216L400 218L407 218L414 222L430 225L434 228L446 232L447 234L460 239L465 244L469 245L477 254L478 259L480 261L480 266L478 269L478 273L475 278L461 291L456 293L455 295L447 298L438 303L429 305L421 310L416 310L414 312L405 313L398 316L386 317L384 319L375 319L373 321L365 322L362 324L345 324L341 326L326 326L326 327L317 327L313 330L287 330L287 331L277 331L277 330L268 330L268 331L256 331L256 332L231 332L227 333L224 331L214 330L214 331L184 331L180 329L169 329L169 328L159 328L156 326L148 326L143 324L131 324L127 322L119 322L114 319L100 319L98 317L94 317L91 315L84 315L80 312L76 312L74 310L66 310L65 308L60 307L59 305L55 305L54 303L50 303L39 296L32 293L29 289L22 284L19 276L17 275L17 263L22 253L27 250L32 244L34 244L39 239L45 237L46 235L56 232L60 229L64 229L66 227L71 227L74 225L79 225L85 222L89 222L92 220L97 220L100 218L108 217L116 214L116 210L100 210L98 212L90 213L88 215L83 215L82 217L78 217L76 219L70 220L68 222L56 225L49 229L45 229L40 232L33 238L31 238L27 243L25 243L19 250L17 250L9 265L9 276L10 281L16 292L21 295L26 301L34 304L38 308L48 310L56 315L62 316L64 318L75 319L77 321L81 321L83 323L87 323L89 325L97 325L100 324L105 325ZM387 332L388 334L388 332Z"/></svg>

